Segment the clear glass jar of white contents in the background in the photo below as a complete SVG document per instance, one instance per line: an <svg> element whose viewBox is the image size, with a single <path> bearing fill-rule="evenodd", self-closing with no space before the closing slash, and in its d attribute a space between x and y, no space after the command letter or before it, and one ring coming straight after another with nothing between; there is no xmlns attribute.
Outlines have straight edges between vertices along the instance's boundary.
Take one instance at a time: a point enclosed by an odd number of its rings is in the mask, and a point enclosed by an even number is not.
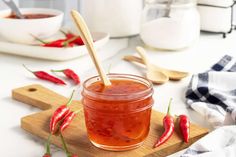
<svg viewBox="0 0 236 157"><path fill-rule="evenodd" d="M154 48L176 50L190 46L200 35L195 0L146 0L142 13L141 39Z"/></svg>

